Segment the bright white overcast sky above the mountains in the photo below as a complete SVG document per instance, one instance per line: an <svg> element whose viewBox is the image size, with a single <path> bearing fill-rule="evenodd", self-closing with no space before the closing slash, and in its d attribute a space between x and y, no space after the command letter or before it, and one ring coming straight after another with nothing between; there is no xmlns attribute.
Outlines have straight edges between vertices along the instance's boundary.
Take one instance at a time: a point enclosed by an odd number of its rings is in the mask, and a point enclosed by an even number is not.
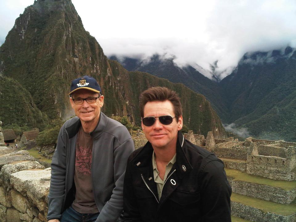
<svg viewBox="0 0 296 222"><path fill-rule="evenodd" d="M34 0L0 0L0 44ZM106 55L175 55L219 70L247 51L296 47L295 0L72 0ZM224 77L224 76L222 76Z"/></svg>

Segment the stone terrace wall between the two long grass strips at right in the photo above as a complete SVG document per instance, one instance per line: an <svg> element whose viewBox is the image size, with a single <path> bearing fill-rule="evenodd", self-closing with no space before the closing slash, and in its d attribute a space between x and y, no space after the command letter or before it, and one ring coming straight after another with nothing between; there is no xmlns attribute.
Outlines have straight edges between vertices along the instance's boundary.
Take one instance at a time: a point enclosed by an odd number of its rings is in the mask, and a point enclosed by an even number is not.
<svg viewBox="0 0 296 222"><path fill-rule="evenodd" d="M228 180L228 182L230 183L232 192L234 193L272 201L279 204L290 204L296 198L296 188L286 191L278 187L248 183L244 181Z"/></svg>

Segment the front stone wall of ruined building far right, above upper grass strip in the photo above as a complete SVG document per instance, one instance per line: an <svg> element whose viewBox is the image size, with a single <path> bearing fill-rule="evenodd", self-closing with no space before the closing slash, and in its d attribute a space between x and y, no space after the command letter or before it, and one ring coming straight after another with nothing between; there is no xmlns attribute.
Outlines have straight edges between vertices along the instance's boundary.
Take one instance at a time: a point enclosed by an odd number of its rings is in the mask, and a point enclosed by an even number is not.
<svg viewBox="0 0 296 222"><path fill-rule="evenodd" d="M247 173L269 179L296 180L296 172L290 168L292 161L274 156L248 155Z"/></svg>

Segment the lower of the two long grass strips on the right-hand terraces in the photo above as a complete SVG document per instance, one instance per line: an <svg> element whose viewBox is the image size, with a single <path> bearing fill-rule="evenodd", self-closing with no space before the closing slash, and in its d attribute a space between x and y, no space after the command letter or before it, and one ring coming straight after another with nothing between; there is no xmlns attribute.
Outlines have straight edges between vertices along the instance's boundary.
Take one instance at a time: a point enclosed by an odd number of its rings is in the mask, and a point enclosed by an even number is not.
<svg viewBox="0 0 296 222"><path fill-rule="evenodd" d="M261 209L263 212L272 212L280 215L291 215L296 212L296 204L278 204L270 201L244 196L236 193L231 194L231 201Z"/></svg>

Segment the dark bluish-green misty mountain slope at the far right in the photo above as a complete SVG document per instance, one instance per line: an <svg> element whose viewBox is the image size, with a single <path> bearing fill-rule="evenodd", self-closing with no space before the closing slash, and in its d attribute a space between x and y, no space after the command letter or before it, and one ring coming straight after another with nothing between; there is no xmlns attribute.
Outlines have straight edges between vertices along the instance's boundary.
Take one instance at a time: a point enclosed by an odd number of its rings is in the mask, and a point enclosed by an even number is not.
<svg viewBox="0 0 296 222"><path fill-rule="evenodd" d="M296 52L247 53L236 70L220 82L228 92L229 122L252 135L296 141ZM226 92L227 91L227 92Z"/></svg>

